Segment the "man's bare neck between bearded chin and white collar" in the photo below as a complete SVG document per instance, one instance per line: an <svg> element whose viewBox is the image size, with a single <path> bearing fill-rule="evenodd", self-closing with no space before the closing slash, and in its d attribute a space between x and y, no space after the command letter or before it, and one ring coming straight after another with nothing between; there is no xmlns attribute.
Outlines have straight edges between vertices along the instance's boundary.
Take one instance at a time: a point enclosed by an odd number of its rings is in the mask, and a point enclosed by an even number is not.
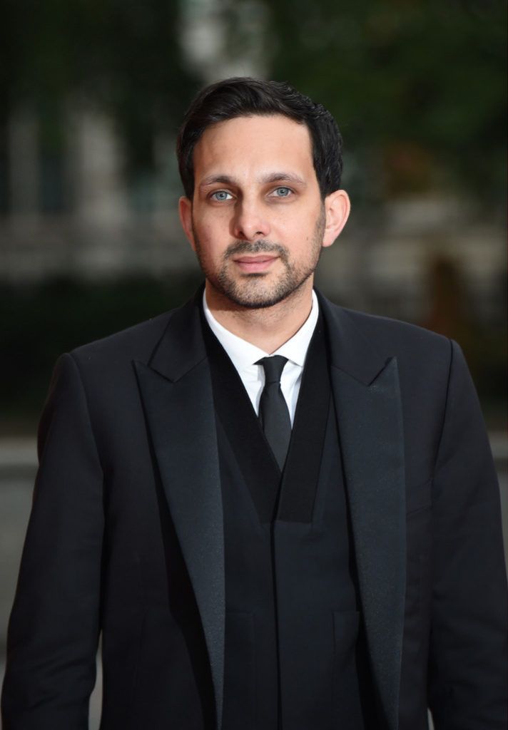
<svg viewBox="0 0 508 730"><path fill-rule="evenodd" d="M309 277L297 291L273 307L240 307L207 280L206 303L216 320L232 334L246 339L265 353L273 353L300 329L311 313L312 283Z"/></svg>

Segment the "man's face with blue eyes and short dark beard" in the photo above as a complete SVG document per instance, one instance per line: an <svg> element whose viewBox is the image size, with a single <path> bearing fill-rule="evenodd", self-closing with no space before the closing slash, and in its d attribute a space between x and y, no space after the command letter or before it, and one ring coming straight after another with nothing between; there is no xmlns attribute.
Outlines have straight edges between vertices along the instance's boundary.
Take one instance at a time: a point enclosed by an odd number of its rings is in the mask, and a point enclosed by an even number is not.
<svg viewBox="0 0 508 730"><path fill-rule="evenodd" d="M214 293L270 307L311 287L325 205L303 124L240 117L208 127L194 148L194 198L183 228Z"/></svg>

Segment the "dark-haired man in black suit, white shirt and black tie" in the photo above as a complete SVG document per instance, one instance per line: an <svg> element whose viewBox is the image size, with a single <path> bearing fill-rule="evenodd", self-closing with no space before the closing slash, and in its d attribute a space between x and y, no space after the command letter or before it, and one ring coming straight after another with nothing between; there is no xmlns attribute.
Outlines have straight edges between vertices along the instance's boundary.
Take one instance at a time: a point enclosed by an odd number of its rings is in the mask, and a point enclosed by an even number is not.
<svg viewBox="0 0 508 730"><path fill-rule="evenodd" d="M458 345L313 291L333 118L202 91L178 137L192 301L60 358L5 730L504 729L498 485Z"/></svg>

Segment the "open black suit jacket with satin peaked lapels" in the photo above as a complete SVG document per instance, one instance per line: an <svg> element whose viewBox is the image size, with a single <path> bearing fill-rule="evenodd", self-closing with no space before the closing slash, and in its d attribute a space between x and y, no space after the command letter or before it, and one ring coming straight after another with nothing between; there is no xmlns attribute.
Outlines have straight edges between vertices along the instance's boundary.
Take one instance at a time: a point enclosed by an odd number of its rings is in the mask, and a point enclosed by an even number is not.
<svg viewBox="0 0 508 730"><path fill-rule="evenodd" d="M223 516L199 298L58 360L5 730L87 727L99 631L105 730L221 725ZM425 727L428 704L437 730L501 730L499 493L460 348L319 303L379 728Z"/></svg>

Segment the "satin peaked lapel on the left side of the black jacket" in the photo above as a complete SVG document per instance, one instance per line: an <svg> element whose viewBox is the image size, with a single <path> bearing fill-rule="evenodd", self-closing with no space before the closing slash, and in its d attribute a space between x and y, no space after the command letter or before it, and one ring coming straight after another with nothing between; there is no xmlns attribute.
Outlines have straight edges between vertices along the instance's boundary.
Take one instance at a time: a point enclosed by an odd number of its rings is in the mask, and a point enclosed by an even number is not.
<svg viewBox="0 0 508 730"><path fill-rule="evenodd" d="M134 367L162 486L200 611L220 728L224 531L213 393L197 298L173 313L148 365L134 362Z"/></svg>

